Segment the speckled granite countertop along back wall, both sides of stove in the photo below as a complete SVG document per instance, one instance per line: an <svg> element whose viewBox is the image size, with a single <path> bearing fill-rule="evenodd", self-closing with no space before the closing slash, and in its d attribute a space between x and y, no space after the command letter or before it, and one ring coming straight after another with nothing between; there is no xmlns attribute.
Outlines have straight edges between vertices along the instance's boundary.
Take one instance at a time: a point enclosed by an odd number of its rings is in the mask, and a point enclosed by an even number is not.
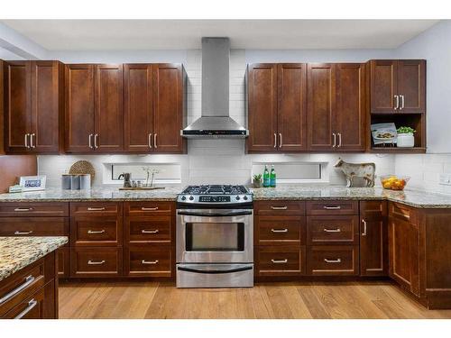
<svg viewBox="0 0 451 338"><path fill-rule="evenodd" d="M166 187L149 191L125 191L116 187L95 187L91 190L61 190L0 194L1 202L84 202L84 201L175 201L183 187ZM287 185L251 188L253 199L387 199L421 208L451 208L451 195L407 188L404 191L386 190L382 187L338 187L328 185Z"/></svg>

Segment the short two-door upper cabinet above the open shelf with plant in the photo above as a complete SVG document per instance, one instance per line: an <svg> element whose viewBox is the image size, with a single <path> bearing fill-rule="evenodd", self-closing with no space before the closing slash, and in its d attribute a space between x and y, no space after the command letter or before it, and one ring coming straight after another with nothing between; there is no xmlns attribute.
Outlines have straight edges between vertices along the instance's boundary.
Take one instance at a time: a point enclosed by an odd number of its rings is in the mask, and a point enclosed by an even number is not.
<svg viewBox="0 0 451 338"><path fill-rule="evenodd" d="M425 113L424 59L373 59L370 69L371 113Z"/></svg>

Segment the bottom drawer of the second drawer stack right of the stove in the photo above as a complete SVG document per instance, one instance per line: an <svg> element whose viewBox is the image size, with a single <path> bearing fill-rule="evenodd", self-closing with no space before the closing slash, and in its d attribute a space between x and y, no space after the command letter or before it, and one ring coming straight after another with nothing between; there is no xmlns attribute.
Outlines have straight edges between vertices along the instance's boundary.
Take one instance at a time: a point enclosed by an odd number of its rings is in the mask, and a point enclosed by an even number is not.
<svg viewBox="0 0 451 338"><path fill-rule="evenodd" d="M313 276L357 275L358 246L310 246L307 265L308 274Z"/></svg>

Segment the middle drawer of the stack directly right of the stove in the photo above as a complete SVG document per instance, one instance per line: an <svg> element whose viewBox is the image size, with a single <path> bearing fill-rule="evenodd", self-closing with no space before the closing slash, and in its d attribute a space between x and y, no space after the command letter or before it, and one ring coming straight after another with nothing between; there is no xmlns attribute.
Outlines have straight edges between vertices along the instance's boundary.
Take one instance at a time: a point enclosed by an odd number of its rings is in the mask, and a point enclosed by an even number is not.
<svg viewBox="0 0 451 338"><path fill-rule="evenodd" d="M305 216L256 216L255 244L305 244Z"/></svg>

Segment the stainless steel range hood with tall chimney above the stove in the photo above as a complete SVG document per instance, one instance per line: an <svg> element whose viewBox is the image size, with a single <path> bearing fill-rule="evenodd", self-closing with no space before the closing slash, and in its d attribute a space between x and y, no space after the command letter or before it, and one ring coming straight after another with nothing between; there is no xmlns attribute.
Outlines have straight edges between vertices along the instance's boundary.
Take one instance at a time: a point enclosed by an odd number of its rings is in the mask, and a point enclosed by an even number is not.
<svg viewBox="0 0 451 338"><path fill-rule="evenodd" d="M249 134L229 116L228 38L202 38L202 116L180 133L187 138L244 138Z"/></svg>

